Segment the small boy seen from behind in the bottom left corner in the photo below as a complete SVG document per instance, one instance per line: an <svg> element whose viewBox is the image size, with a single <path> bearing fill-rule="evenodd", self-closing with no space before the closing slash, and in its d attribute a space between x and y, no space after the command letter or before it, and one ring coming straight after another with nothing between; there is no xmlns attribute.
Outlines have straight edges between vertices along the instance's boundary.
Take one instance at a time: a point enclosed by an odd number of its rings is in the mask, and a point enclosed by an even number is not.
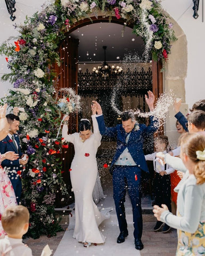
<svg viewBox="0 0 205 256"><path fill-rule="evenodd" d="M22 243L29 227L29 211L22 205L7 207L2 214L2 226L7 233L0 239L0 255L32 256L31 249Z"/></svg>

